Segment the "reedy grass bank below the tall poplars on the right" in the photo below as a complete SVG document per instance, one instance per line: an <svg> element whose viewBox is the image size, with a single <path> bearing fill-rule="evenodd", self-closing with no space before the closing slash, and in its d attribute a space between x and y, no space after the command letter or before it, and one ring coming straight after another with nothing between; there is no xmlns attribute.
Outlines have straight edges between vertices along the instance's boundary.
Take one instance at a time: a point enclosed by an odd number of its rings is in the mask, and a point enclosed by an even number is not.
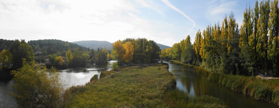
<svg viewBox="0 0 279 108"><path fill-rule="evenodd" d="M217 72L210 72L201 67L183 64L179 61L171 60L174 64L192 67L195 72L208 76L208 80L215 81L226 86L234 92L243 93L257 100L267 101L279 105L279 80L278 79L257 79L242 75L230 75Z"/></svg>

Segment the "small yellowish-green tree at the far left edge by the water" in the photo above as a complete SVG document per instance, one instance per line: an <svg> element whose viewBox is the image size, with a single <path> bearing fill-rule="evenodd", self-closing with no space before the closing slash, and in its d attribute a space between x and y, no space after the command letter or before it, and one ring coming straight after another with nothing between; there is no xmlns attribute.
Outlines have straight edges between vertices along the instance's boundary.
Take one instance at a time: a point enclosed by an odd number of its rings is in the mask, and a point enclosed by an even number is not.
<svg viewBox="0 0 279 108"><path fill-rule="evenodd" d="M3 50L0 53L0 63L2 63L3 68L11 68L12 66L12 54L9 50Z"/></svg>

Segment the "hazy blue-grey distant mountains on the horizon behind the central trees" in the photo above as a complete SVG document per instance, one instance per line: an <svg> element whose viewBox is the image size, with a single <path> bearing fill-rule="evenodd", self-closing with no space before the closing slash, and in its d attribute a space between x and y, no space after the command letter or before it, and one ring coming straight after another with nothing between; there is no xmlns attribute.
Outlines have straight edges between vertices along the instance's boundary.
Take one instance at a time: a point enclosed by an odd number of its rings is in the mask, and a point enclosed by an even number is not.
<svg viewBox="0 0 279 108"><path fill-rule="evenodd" d="M106 48L106 49L111 49L112 48L112 44L108 41L97 41L97 40L84 40L84 41L76 41L76 42L72 42L81 46L85 46L88 47L90 49L98 49L98 48ZM160 49L167 49L167 48L171 48L169 46L163 45L163 44L158 44L157 45L160 47Z"/></svg>

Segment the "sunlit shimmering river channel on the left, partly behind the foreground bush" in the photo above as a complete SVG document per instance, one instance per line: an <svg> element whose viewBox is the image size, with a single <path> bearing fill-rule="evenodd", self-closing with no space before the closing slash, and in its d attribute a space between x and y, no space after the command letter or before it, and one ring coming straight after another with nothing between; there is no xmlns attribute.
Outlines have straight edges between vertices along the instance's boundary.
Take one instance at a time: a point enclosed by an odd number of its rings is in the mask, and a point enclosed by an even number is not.
<svg viewBox="0 0 279 108"><path fill-rule="evenodd" d="M102 71L111 70L112 63L116 61L108 61L107 65L88 65L85 67L67 68L60 70L61 82L65 84L65 87L72 85L84 85L90 81L90 78L94 75L100 75ZM87 71L83 72L83 68ZM14 108L17 107L16 101L10 95L10 92L14 92L12 85L15 83L13 80L0 81L0 108Z"/></svg>

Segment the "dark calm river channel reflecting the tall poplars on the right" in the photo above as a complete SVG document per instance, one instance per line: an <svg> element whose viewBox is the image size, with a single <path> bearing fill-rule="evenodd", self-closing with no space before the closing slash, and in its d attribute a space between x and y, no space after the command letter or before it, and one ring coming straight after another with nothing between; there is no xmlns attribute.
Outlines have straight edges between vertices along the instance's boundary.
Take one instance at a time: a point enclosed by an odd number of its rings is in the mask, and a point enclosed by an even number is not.
<svg viewBox="0 0 279 108"><path fill-rule="evenodd" d="M206 76L194 72L193 68L164 62L169 64L169 71L174 75L177 82L176 87L189 93L189 95L217 97L224 100L226 105L232 108L278 108L273 103L255 100L250 96L233 92L217 82L208 81Z"/></svg>

